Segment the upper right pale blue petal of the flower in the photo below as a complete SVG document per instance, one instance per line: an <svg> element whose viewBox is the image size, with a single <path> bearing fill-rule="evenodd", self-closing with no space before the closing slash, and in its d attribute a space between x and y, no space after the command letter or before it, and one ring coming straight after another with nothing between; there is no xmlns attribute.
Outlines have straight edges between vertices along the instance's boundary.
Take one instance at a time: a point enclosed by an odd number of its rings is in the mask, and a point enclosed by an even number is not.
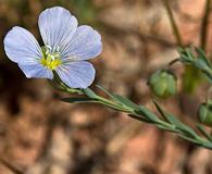
<svg viewBox="0 0 212 174"><path fill-rule="evenodd" d="M99 55L102 51L101 36L90 26L82 25L77 28L72 41L61 50L63 60L88 60Z"/></svg>

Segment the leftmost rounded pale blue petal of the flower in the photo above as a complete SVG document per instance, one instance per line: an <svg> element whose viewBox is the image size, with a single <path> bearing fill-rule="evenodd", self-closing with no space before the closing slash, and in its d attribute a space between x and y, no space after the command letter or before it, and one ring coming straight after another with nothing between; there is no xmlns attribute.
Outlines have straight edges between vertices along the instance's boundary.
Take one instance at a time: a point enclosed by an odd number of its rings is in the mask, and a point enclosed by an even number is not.
<svg viewBox="0 0 212 174"><path fill-rule="evenodd" d="M13 27L3 42L5 53L13 62L32 64L41 58L39 44L28 30L22 27Z"/></svg>

